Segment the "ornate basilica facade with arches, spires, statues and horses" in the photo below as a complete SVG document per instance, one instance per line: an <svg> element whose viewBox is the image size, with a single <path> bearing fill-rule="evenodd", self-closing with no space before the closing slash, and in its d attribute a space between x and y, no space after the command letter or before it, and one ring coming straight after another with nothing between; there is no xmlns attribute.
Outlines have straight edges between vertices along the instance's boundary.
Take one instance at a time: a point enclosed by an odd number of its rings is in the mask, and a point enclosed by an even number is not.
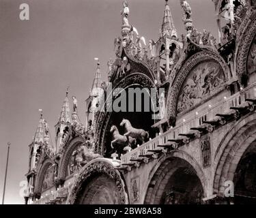
<svg viewBox="0 0 256 218"><path fill-rule="evenodd" d="M26 204L256 203L256 1L213 0L217 39L197 29L184 0L179 36L171 3L159 3L162 26L150 42L122 4L115 60L108 81L96 67L85 122L68 90L54 134L41 114ZM130 106L130 90L143 101Z"/></svg>

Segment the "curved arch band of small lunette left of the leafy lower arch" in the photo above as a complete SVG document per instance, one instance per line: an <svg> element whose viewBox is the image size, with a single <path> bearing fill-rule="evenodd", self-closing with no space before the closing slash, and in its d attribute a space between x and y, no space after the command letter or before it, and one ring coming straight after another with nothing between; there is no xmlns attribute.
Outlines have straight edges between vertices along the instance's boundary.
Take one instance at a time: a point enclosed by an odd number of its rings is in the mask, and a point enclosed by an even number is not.
<svg viewBox="0 0 256 218"><path fill-rule="evenodd" d="M81 137L73 138L69 144L66 146L66 150L63 152L63 155L60 159L58 166L58 178L64 180L66 178L66 172L68 168L68 163L70 158L72 157L72 152L76 148L76 146L83 144L85 140Z"/></svg>

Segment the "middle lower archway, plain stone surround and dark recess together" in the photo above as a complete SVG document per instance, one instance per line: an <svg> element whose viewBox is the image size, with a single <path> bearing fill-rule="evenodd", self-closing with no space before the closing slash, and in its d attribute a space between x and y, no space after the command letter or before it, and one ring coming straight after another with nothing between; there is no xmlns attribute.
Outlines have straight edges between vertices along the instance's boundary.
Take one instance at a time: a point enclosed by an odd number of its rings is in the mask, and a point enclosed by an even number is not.
<svg viewBox="0 0 256 218"><path fill-rule="evenodd" d="M147 187L144 203L201 204L205 197L205 178L197 163L192 159L190 163L180 157L162 161Z"/></svg>

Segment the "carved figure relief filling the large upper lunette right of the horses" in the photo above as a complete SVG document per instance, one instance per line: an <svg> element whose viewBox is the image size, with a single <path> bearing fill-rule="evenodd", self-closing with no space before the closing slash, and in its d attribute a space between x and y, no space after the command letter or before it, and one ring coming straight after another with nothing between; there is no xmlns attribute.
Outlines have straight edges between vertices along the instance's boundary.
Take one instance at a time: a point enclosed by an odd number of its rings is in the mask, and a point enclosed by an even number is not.
<svg viewBox="0 0 256 218"><path fill-rule="evenodd" d="M210 97L225 82L221 65L212 61L196 65L186 78L177 103L177 113L199 104Z"/></svg>

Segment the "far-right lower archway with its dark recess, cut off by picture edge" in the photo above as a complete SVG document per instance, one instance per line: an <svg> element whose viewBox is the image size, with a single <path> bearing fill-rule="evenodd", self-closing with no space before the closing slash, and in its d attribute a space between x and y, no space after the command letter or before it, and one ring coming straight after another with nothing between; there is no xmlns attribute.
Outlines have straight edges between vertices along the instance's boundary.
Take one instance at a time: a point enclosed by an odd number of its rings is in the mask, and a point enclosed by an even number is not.
<svg viewBox="0 0 256 218"><path fill-rule="evenodd" d="M225 196L225 182L234 184L234 203L253 202L256 190L251 188L256 182L256 114L249 114L230 129L218 146L215 163L214 193ZM254 174L252 174L254 169ZM250 200L248 200L250 198Z"/></svg>

